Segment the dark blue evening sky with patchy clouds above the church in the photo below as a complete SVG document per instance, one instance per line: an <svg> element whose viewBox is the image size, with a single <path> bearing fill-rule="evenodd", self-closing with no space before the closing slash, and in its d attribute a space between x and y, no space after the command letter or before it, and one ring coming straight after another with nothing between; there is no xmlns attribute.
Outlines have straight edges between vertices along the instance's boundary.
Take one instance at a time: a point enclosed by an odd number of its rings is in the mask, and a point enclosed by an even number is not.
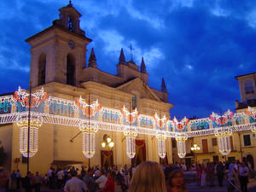
<svg viewBox="0 0 256 192"><path fill-rule="evenodd" d="M25 39L51 26L67 0L0 3L0 93L28 88L30 46ZM73 0L92 38L98 67L116 74L119 51L142 56L149 85L166 80L171 115L207 117L234 110L236 75L255 72L256 2L247 0ZM88 56L87 56L88 58Z"/></svg>

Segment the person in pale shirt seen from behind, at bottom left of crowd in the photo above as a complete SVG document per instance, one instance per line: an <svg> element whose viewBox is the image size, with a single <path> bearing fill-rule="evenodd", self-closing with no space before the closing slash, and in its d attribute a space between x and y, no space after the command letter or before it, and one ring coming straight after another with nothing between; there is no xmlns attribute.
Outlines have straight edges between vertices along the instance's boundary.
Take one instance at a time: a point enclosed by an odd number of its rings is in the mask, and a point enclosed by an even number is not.
<svg viewBox="0 0 256 192"><path fill-rule="evenodd" d="M77 177L78 172L72 170L71 172L72 178L67 181L64 186L65 192L83 192L87 191L87 187L84 182Z"/></svg>

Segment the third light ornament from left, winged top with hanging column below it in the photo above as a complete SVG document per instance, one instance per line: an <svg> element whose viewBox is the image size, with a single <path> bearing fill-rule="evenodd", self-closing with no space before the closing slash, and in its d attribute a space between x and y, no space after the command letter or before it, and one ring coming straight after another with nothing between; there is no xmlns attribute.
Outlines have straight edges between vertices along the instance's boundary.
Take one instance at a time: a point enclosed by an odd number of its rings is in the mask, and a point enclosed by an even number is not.
<svg viewBox="0 0 256 192"><path fill-rule="evenodd" d="M124 135L126 140L126 154L129 158L134 158L136 154L135 138L137 137L137 128L131 126L131 124L137 119L137 108L131 113L124 107L121 109L123 117L129 122L130 125L125 125Z"/></svg>

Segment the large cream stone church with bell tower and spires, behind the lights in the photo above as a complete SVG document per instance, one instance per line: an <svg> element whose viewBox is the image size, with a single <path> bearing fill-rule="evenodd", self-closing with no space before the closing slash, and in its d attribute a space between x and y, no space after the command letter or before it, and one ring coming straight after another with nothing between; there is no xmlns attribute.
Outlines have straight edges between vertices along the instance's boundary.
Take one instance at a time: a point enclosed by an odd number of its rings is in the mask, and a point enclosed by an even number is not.
<svg viewBox="0 0 256 192"><path fill-rule="evenodd" d="M168 102L165 81L162 79L160 90L149 86L143 58L138 67L134 61L125 61L125 54L121 49L116 66L117 74L113 75L97 67L94 49L91 49L89 62L86 64L86 47L92 40L87 38L80 28L79 18L82 15L72 3L59 11L60 18L54 20L52 26L26 39L26 42L31 45L32 92L44 86L48 96L52 96L54 100L54 102L45 104L44 112L48 111L50 115L63 115L63 118L67 120L68 113L72 113L70 106L76 99L79 99L79 96L82 96L87 103L98 100L105 108L105 111L99 114L99 118L106 124L122 121L117 110L123 108L124 105L130 111L137 108L139 113L144 115L143 119L138 122L143 127L153 127L152 118L147 119L147 117L152 117L154 113L162 116L165 114L167 118L170 118L170 109L173 105ZM55 98L61 98L61 100L55 100ZM3 108L1 110L3 114ZM26 111L27 108L20 106L9 109L12 112L22 112L22 110ZM75 117L83 116L78 113L72 114ZM44 123L38 130L38 152L30 158L32 172L46 172L50 166L60 167L67 164L96 166L107 163L123 166L143 160L160 161L154 136L138 134L136 143L143 147L137 149L141 153L138 153L132 161L125 152L123 132L107 130L97 131L95 155L87 159L82 153L83 140L78 127L55 123ZM1 125L0 140L9 152L9 170L19 167L24 175L26 158L20 154L20 134L16 123ZM77 134L79 136L75 137ZM113 148L102 148L105 135L112 138ZM166 158L169 162L172 161L172 143L168 142L170 140L171 138L167 138L166 146L168 150Z"/></svg>

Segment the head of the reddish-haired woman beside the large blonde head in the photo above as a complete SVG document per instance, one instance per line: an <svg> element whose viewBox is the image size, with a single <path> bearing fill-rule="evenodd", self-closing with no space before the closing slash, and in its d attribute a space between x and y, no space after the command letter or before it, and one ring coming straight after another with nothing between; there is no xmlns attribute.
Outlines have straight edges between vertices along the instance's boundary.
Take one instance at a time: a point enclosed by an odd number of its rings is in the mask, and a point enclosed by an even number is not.
<svg viewBox="0 0 256 192"><path fill-rule="evenodd" d="M174 170L168 177L168 184L172 188L185 189L184 173L181 170Z"/></svg>

